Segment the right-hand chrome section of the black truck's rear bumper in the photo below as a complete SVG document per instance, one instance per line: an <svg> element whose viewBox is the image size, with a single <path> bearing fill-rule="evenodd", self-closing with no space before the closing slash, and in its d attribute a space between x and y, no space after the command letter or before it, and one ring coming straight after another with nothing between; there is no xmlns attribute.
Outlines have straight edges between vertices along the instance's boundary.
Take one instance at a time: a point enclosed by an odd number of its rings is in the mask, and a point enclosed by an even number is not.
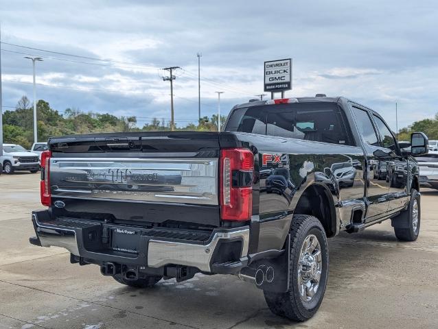
<svg viewBox="0 0 438 329"><path fill-rule="evenodd" d="M197 267L210 272L210 261L214 249L222 239L242 239L241 257L248 255L249 228L234 232L216 232L208 245L192 245L170 241L150 240L148 245L148 267L176 264Z"/></svg>

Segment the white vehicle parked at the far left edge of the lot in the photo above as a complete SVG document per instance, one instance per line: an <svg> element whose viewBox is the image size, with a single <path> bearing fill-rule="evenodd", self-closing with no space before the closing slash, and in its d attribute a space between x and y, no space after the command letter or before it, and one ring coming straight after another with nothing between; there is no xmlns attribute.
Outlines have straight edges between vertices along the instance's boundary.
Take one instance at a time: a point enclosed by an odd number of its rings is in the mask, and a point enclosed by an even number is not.
<svg viewBox="0 0 438 329"><path fill-rule="evenodd" d="M5 173L13 173L16 170L36 173L40 169L38 154L16 144L3 144L3 156L0 156L0 162Z"/></svg>

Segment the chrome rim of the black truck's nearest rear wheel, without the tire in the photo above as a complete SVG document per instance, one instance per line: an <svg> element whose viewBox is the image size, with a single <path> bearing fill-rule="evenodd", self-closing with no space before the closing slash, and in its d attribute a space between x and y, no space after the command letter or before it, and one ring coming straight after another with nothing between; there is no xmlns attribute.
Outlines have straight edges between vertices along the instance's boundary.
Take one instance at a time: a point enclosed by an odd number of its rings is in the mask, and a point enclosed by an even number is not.
<svg viewBox="0 0 438 329"><path fill-rule="evenodd" d="M304 240L298 262L299 295L304 302L310 302L318 290L323 267L321 245L313 234Z"/></svg>

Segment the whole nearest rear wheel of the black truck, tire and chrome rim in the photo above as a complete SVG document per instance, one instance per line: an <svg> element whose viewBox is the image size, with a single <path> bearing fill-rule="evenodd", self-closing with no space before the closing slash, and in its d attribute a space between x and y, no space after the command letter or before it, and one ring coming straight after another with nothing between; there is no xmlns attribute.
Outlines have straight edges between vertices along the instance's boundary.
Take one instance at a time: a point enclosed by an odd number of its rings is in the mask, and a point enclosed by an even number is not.
<svg viewBox="0 0 438 329"><path fill-rule="evenodd" d="M264 291L270 310L294 321L306 321L323 301L328 278L328 244L321 222L295 215L290 229L289 290Z"/></svg>

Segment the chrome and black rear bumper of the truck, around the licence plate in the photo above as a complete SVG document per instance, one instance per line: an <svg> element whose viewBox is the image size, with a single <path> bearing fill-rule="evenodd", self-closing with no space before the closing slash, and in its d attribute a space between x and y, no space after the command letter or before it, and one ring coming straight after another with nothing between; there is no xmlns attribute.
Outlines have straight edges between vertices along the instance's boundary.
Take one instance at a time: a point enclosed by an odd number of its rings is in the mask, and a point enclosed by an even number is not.
<svg viewBox="0 0 438 329"><path fill-rule="evenodd" d="M43 218L44 217L44 218ZM139 265L159 268L166 265L183 265L196 267L200 271L212 272L213 258L216 249L222 243L241 241L240 258L246 258L249 249L249 227L245 226L230 230L213 230L210 238L205 243L190 243L189 241L172 241L171 239L159 239L156 236L148 236L141 232L137 253L114 252L113 249L105 249L97 242L89 242L90 232L102 232L102 227L110 227L111 224L102 224L96 221L53 221L49 220L48 212L33 212L32 222L36 232L36 239L32 244L43 247L63 247L76 256L98 260L102 262L114 262L119 264ZM110 229L123 228L124 230L139 230L126 226L111 226ZM100 233L99 233L100 234Z"/></svg>

